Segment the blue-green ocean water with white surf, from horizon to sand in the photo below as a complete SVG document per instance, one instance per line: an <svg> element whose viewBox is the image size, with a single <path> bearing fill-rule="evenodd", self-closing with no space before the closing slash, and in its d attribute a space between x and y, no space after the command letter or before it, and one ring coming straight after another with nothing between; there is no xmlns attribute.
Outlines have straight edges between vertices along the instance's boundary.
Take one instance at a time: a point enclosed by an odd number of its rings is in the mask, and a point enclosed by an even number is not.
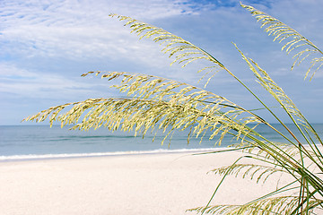
<svg viewBox="0 0 323 215"><path fill-rule="evenodd" d="M275 126L280 131L284 130L281 125ZM322 136L323 124L313 126ZM266 126L259 125L257 130L274 142L284 142ZM192 138L188 144L188 133L177 132L171 142L167 139L162 145L163 133L158 133L154 142L153 135L147 133L143 139L140 135L135 137L134 133L111 133L104 127L85 132L58 125L51 128L48 125L0 125L0 160L212 150L235 143L228 135L221 146L214 147L217 139L209 141L206 136L201 143L199 138Z"/></svg>

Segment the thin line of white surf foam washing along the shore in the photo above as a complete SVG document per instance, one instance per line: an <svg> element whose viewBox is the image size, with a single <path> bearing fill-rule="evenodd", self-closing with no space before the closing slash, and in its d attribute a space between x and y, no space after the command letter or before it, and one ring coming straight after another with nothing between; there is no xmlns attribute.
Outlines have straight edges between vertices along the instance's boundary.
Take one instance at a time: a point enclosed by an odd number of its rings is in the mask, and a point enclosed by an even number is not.
<svg viewBox="0 0 323 215"><path fill-rule="evenodd" d="M207 152L220 150L221 148L205 149L179 149L179 150L131 150L115 152L93 152L93 153L72 153L72 154L28 154L28 155L9 155L0 156L0 161L27 160L27 159L65 159L65 158L83 158L100 156L122 156L122 155L140 155L140 154L160 154L160 153L180 153L180 152Z"/></svg>

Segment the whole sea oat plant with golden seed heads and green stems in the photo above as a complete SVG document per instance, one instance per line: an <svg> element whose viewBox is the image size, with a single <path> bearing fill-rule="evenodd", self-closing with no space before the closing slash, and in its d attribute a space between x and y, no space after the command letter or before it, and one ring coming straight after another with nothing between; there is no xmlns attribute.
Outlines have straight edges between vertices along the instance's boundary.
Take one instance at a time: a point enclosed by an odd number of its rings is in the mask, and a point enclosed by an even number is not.
<svg viewBox="0 0 323 215"><path fill-rule="evenodd" d="M288 54L293 53L292 68L303 61L310 62L305 78L310 76L312 79L323 64L323 53L319 48L283 22L252 6L240 5L261 23L261 27L265 28L270 36L275 37L274 40L282 44L282 50ZM176 130L188 130L188 142L191 138L201 138L202 141L205 135L211 133L207 136L208 139L216 140L220 144L224 136L231 135L236 140L231 150L240 150L241 157L229 167L214 169L215 174L223 177L214 195L229 175L249 176L254 180L266 182L271 180L270 176L279 172L292 176L293 180L252 202L242 205L212 205L213 195L206 206L190 211L202 214L315 214L323 210L323 142L314 127L265 70L245 56L234 44L255 75L256 82L276 100L292 125L297 128L297 133L301 134L301 138L276 116L274 109L266 105L266 100L260 99L234 73L204 49L166 30L130 17L117 14L110 16L125 22L125 26L130 27L131 32L137 34L140 39L153 39L161 44L162 52L174 58L171 64L178 63L185 67L194 61L208 62L198 70L201 80L205 80L205 86L212 81L215 73L229 73L290 135L278 131L275 126L258 116L256 111L241 107L205 88L149 74L125 72L89 72L82 76L95 74L108 81L119 81L118 85L112 87L127 93L126 98L86 99L50 107L24 120L42 122L49 118L50 125L59 121L62 126L74 125L72 129L80 130L104 126L112 131L134 130L135 134L143 136L147 132L157 133L158 130L162 130L165 133L164 140ZM62 110L65 112L61 112ZM258 125L266 125L273 129L284 138L285 144L273 142L256 132L255 128ZM222 152L225 151L228 150ZM240 162L246 158L258 160L259 164Z"/></svg>

